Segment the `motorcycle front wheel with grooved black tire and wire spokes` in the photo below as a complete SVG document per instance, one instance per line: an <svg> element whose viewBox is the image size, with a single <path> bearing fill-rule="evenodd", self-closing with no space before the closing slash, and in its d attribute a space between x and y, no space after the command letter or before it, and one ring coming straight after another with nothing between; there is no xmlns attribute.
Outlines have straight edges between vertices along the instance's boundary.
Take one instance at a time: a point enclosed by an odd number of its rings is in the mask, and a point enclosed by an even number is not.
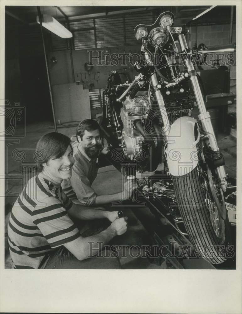
<svg viewBox="0 0 242 314"><path fill-rule="evenodd" d="M173 177L177 205L195 252L212 264L227 260L230 243L229 220L219 214L218 206L225 206L223 192L211 186L210 169L197 167L184 176ZM210 180L210 181L209 181ZM213 182L214 183L214 182Z"/></svg>

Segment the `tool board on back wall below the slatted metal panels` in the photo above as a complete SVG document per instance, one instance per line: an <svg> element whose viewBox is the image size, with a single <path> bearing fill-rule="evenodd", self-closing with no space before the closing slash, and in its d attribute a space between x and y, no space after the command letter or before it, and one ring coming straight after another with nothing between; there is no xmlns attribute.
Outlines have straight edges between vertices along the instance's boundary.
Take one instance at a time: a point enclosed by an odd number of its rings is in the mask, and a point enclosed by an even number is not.
<svg viewBox="0 0 242 314"><path fill-rule="evenodd" d="M132 64L140 55L140 45L74 50L72 55L75 82L83 89L101 89L111 71L127 73L130 80L137 75ZM51 52L48 60L52 85L73 83L70 51Z"/></svg>

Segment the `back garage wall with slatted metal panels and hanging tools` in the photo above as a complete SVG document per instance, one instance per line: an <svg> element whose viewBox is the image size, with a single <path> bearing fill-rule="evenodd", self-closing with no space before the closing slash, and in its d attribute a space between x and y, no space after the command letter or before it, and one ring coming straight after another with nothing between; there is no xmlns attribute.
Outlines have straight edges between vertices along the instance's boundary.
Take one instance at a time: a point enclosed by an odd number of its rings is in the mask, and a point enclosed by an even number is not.
<svg viewBox="0 0 242 314"><path fill-rule="evenodd" d="M157 14L160 14L159 10L150 10L137 14L125 13L115 17L70 21L72 39L66 41L51 34L48 54L51 84L54 86L73 83L71 55L68 51L68 48L72 47L74 81L82 84L83 90L89 91L91 117L101 114L102 89L105 88L111 71L126 73L129 80L136 75L136 71L128 62L128 57L126 65L119 60L116 66L112 66L110 58L108 63L105 61L104 53L139 54L141 43L135 39L134 27L141 21L152 24ZM88 52L90 50L92 52ZM95 59L92 62L94 66L87 70L85 63L89 63L90 55L98 56L99 59ZM57 62L52 63L51 59L56 59Z"/></svg>

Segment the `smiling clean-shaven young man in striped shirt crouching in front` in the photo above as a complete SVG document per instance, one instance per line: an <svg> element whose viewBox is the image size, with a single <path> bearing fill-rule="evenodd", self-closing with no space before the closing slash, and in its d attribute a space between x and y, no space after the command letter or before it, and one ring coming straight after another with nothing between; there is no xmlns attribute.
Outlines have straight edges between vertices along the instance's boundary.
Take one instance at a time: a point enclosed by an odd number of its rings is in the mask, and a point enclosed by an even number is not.
<svg viewBox="0 0 242 314"><path fill-rule="evenodd" d="M71 177L74 164L70 138L48 133L40 138L36 153L39 173L24 187L9 219L8 243L14 268L119 268L118 259L110 254L90 256L126 232L125 219L118 218L117 212L74 204L62 192L62 180ZM93 220L93 226L83 224L85 237L72 218ZM96 220L104 218L109 220L106 226L111 223L105 230L105 224Z"/></svg>

